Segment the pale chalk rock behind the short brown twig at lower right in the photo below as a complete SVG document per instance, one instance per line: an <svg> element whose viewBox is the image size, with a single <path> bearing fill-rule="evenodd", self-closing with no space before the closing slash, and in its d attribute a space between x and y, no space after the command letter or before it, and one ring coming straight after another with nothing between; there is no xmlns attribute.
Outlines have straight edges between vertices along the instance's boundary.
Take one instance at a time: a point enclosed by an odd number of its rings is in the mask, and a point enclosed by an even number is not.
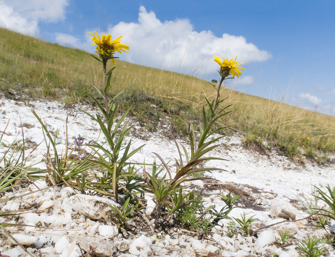
<svg viewBox="0 0 335 257"><path fill-rule="evenodd" d="M295 215L298 209L295 208L288 201L285 201L279 197L271 200L270 216L272 218L284 218L295 220Z"/></svg>

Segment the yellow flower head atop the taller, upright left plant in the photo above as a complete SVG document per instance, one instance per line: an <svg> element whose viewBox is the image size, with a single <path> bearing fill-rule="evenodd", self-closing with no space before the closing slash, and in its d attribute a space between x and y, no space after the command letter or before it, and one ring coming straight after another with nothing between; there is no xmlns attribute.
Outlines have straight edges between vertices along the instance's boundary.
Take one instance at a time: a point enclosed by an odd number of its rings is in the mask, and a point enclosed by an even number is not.
<svg viewBox="0 0 335 257"><path fill-rule="evenodd" d="M94 31L95 32L95 31ZM92 40L94 41L94 44L91 46L97 45L95 48L95 53L97 53L102 59L112 59L114 57L115 52L119 52L120 54L123 52L126 52L126 50L129 50L128 45L120 44L120 38L122 36L119 36L118 38L115 38L112 40L112 35L102 35L102 39L100 39L98 33L95 32L96 36L93 35L91 32L88 32L92 35ZM113 64L115 64L114 58L112 59Z"/></svg>

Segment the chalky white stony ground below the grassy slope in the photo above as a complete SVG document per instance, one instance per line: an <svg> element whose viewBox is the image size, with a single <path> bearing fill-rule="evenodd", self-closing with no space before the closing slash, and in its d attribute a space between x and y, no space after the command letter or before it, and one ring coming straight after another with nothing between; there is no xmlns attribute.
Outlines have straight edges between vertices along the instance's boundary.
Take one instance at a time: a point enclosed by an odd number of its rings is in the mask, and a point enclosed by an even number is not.
<svg viewBox="0 0 335 257"><path fill-rule="evenodd" d="M90 140L102 142L103 136L99 136L99 127L95 121L80 111L84 109L95 115L96 110L90 110L88 106L76 106L68 118L68 138L70 147L74 147L74 138L80 135L84 138L84 144ZM20 124L24 124L24 138L37 144L43 141L42 127L31 110L42 118L45 124L54 132L57 130L57 149L58 153L65 152L65 127L66 117L71 111L65 109L59 102L31 101L29 103L16 102L5 98L0 99L0 135L5 130L6 124L9 124L3 135L2 143L12 143L22 138ZM159 127L168 127L169 124L161 120ZM127 121L134 125L128 142L136 142L132 149L140 145L145 146L132 158L133 162L152 163L154 160L153 152L159 154L166 162L171 158L179 159L177 148L173 141L168 140L164 130L149 133L144 127L141 127L133 119ZM28 128L29 127L29 128ZM221 157L229 161L210 161L204 164L206 167L217 167L226 171L213 171L212 174L205 174L208 177L217 179L217 184L231 184L235 188L249 193L245 201L241 201L238 208L231 211L230 217L241 218L245 213L249 218L254 215L257 219L252 224L252 229L257 229L265 225L270 225L283 221L279 212L290 213L295 219L307 217L308 214L302 210L296 209L295 201L298 197L302 198L302 193L306 195L311 193L313 187L317 185L323 187L330 184L335 186L335 165L320 166L317 163L306 161L305 165L295 164L289 158L281 156L275 151L267 151L267 154L259 154L254 148L248 149L243 144L243 138L236 135L225 137L219 141L220 146L209 153L210 156ZM187 149L188 142L183 144ZM4 153L5 147L0 145L0 155ZM25 154L29 154L32 149L27 149ZM43 142L29 157L29 163L34 164L42 160L46 154L47 147ZM87 149L87 151L89 151ZM331 157L331 158L334 158ZM156 158L157 160L157 158ZM3 165L0 163L0 166ZM174 162L171 161L171 165ZM36 164L36 167L45 169L45 163ZM149 168L147 167L147 171ZM174 170L174 167L172 167ZM140 171L142 173L142 170ZM216 209L224 206L220 197L227 194L227 187L204 184L202 181L195 181L190 185L197 190L204 189L205 198L208 206L214 205ZM30 192L37 187L46 187L43 181L31 184L29 187L6 192L5 197L20 195ZM210 189L208 189L210 188ZM325 188L323 188L325 189ZM210 191L211 190L211 191ZM79 193L78 193L79 194ZM13 219L12 223L32 225L36 227L20 227L20 231L11 228L18 241L25 245L30 252L41 254L42 256L81 256L84 251L89 249L89 245L100 245L100 250L95 250L95 255L99 256L195 256L207 255L209 252L221 256L270 256L271 253L280 257L298 256L295 249L298 239L305 239L307 235L322 236L324 231L313 227L313 222L308 220L296 222L284 222L270 228L262 229L258 232L258 238L246 237L236 234L232 238L226 236L227 223L229 220L221 220L216 226L210 238L200 238L196 235L190 235L185 231L172 229L165 231L167 234L159 234L157 237L146 230L132 236L131 234L118 234L118 231L111 223L106 223L102 217L90 216L90 211L85 212L80 208L89 206L89 201L70 190L69 188L45 189L41 192L24 196L22 199L8 201L0 206L1 210L18 210L27 207L32 203L42 203L38 209L31 209L32 212L21 215ZM151 195L146 195L146 199L151 199ZM86 202L87 201L87 202ZM81 202L81 205L79 204ZM152 201L148 201L148 203ZM319 202L322 206L322 202ZM110 204L110 203L109 203ZM148 204L149 205L149 204ZM277 206L278 205L278 206ZM81 206L81 207L80 207ZM92 207L93 208L93 207ZM257 209L257 210L256 210ZM92 210L93 211L93 210ZM150 217L150 206L147 208L148 219ZM292 218L291 217L291 218ZM1 223L7 223L8 220L0 218ZM329 224L332 225L332 224ZM280 232L289 231L290 246L280 247L275 244ZM90 236L90 237L88 237ZM94 236L94 237L92 237ZM98 240L98 241L93 241ZM99 241L100 240L100 241ZM8 237L2 236L0 239L1 254L11 257L25 256L26 253ZM325 256L335 256L335 251L330 245L325 245ZM80 249L81 248L81 249ZM101 252L99 252L101 251ZM208 255L213 256L213 255Z"/></svg>

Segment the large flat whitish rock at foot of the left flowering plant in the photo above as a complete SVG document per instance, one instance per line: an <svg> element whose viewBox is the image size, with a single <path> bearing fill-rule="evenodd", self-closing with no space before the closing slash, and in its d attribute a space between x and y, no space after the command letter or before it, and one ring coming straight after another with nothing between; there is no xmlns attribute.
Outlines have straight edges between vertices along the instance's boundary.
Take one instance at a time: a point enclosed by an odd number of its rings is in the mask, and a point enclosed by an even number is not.
<svg viewBox="0 0 335 257"><path fill-rule="evenodd" d="M70 202L74 211L93 220L102 219L99 212L106 216L108 212L112 211L109 205L120 206L110 199L86 194L77 194L72 197Z"/></svg>

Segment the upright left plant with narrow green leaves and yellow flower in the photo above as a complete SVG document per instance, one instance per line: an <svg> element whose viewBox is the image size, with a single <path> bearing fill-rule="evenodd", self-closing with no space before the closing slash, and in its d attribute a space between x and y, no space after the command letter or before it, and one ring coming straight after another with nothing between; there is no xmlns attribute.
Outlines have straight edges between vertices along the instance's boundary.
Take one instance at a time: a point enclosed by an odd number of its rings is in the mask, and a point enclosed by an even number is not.
<svg viewBox="0 0 335 257"><path fill-rule="evenodd" d="M94 57L99 62L103 63L103 72L104 72L103 91L101 91L94 85L93 87L96 89L98 94L104 100L105 106L103 106L93 95L89 94L94 103L100 109L102 115L97 114L94 117L88 112L84 110L82 111L99 124L100 129L106 138L107 146L105 146L105 144L99 144L96 141L93 141L93 144L83 146L90 147L93 150L93 152L98 156L97 159L95 160L91 159L90 161L99 166L100 171L102 173L102 176L95 175L96 182L92 182L90 183L90 185L93 187L94 190L102 193L106 193L106 191L112 189L113 195L116 201L118 201L120 180L124 179L127 176L133 179L135 179L136 177L134 176L134 173L124 171L124 168L126 166L133 164L131 162L128 162L128 159L144 146L142 145L137 149L130 151L130 146L132 142L130 140L128 144L126 144L126 146L123 147L125 136L132 128L132 126L128 127L127 122L122 127L122 123L125 120L130 108L124 112L122 117L119 118L117 123L115 124L115 114L118 109L118 103L116 102L116 99L118 98L119 95L123 93L124 90L119 92L112 99L109 99L108 96L108 89L111 85L112 72L115 67L113 67L107 72L107 62L108 60L112 60L112 63L115 64L114 59L118 58L114 56L115 52L118 53L122 53L122 51L126 52L126 50L129 50L129 46L120 44L120 38L122 36L112 40L111 35L102 35L102 37L100 38L100 36L96 32L95 32L96 36L92 33L90 34L92 35L92 40L94 41L92 46L96 45L95 52L99 55L101 59L95 57L94 55L91 56ZM120 132L118 136L116 136L117 132ZM129 179L127 180L126 184L134 187L134 184L131 183Z"/></svg>

